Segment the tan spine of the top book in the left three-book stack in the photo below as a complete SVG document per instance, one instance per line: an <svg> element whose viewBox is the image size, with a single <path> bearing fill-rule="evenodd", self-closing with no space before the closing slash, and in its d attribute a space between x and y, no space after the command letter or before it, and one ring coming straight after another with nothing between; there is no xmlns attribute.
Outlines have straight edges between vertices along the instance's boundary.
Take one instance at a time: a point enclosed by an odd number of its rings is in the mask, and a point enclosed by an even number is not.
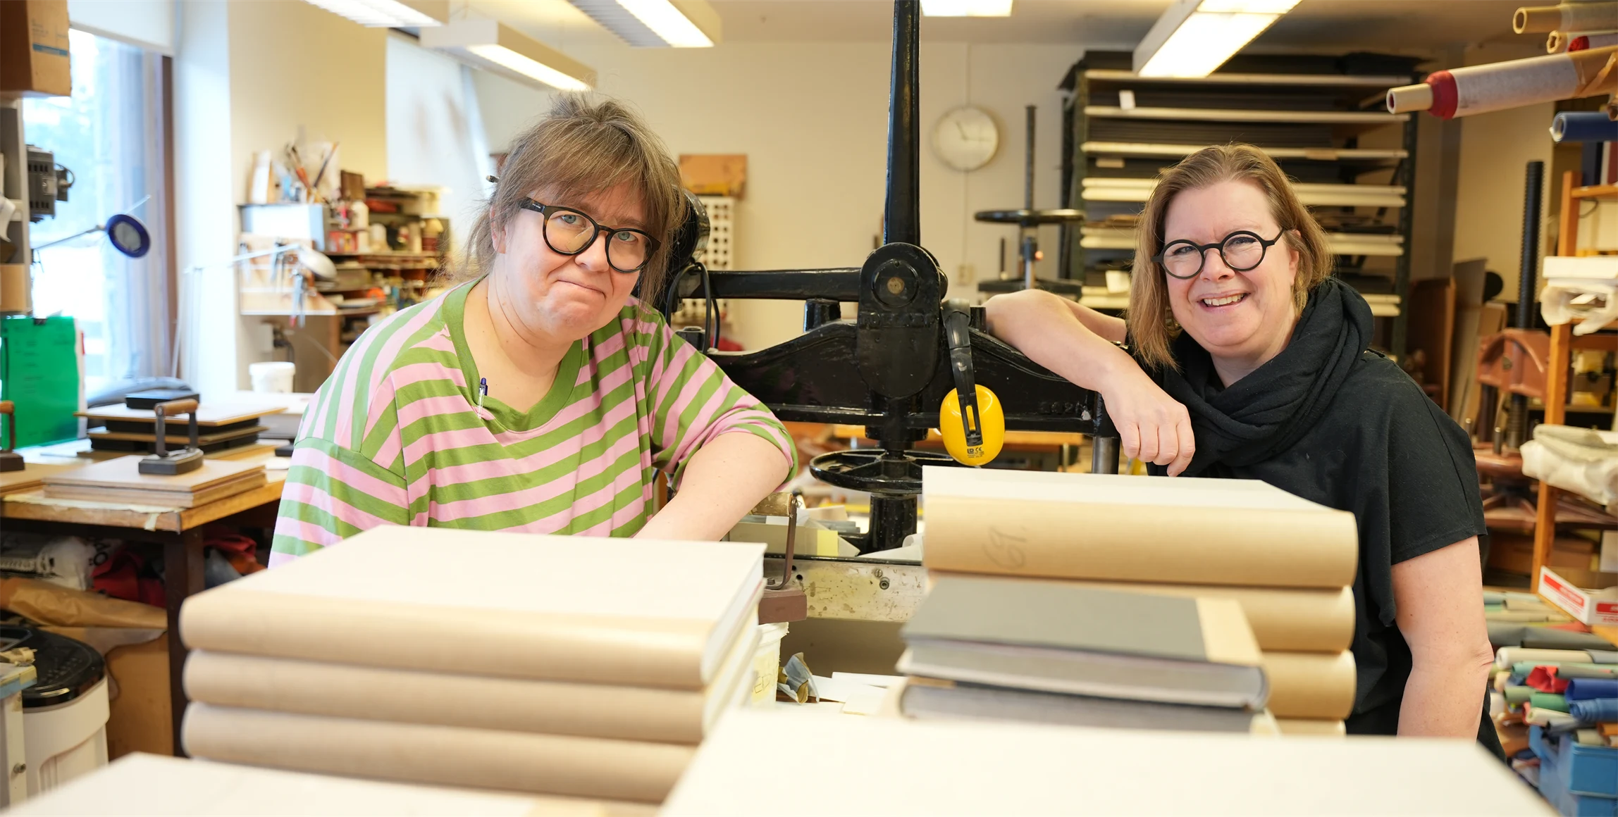
<svg viewBox="0 0 1618 817"><path fill-rule="evenodd" d="M401 670L702 689L697 621L523 615L230 586L186 599L189 649Z"/></svg>

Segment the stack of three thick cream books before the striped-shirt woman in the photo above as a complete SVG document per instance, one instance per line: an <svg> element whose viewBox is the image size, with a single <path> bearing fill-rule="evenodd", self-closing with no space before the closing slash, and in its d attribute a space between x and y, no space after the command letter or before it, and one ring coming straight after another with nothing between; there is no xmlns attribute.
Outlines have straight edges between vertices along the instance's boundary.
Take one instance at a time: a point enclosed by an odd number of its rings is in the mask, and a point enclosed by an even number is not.
<svg viewBox="0 0 1618 817"><path fill-rule="evenodd" d="M375 527L197 594L209 760L655 804L752 691L764 547Z"/></svg>

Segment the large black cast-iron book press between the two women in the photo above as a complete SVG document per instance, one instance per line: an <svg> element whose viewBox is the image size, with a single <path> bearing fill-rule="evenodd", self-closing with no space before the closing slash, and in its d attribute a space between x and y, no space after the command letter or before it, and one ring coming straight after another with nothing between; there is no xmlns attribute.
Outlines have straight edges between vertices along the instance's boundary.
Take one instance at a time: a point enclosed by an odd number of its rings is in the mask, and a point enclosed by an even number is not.
<svg viewBox="0 0 1618 817"><path fill-rule="evenodd" d="M676 235L663 314L681 298L707 301L709 328L681 337L705 349L736 385L788 422L846 422L866 427L874 450L815 456L809 471L832 485L870 493L870 529L845 535L862 553L900 547L916 532L916 497L922 466L955 464L948 455L916 451L940 425L938 406L950 390L966 395L963 411L977 414L977 388L997 396L1008 430L1086 432L1094 435L1092 469L1118 471L1118 434L1100 395L1079 388L985 332L984 309L945 301L948 278L921 246L921 121L917 0L893 3L893 73L888 105L888 183L883 244L864 265L820 270L730 272L702 265L707 228L701 202ZM803 299L804 333L751 353L717 345L720 298ZM841 304L859 317L841 319ZM951 354L947 312L964 314L968 353ZM961 320L956 317L955 320Z"/></svg>

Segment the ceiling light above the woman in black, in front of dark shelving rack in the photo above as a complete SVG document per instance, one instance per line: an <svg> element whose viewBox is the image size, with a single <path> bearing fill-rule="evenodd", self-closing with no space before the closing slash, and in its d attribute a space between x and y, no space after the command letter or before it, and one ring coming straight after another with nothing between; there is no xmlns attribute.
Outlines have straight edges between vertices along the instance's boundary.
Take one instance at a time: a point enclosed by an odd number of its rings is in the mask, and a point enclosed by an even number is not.
<svg viewBox="0 0 1618 817"><path fill-rule="evenodd" d="M1180 0L1134 49L1141 76L1207 76L1299 0Z"/></svg>

